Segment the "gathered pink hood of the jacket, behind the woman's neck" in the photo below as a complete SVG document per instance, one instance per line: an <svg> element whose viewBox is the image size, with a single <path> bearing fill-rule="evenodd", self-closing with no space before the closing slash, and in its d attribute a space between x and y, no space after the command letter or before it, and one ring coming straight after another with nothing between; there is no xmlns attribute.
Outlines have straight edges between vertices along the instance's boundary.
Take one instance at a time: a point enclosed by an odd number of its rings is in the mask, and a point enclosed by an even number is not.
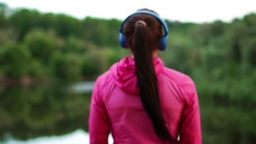
<svg viewBox="0 0 256 144"><path fill-rule="evenodd" d="M156 75L160 74L164 70L164 63L159 57L153 57L153 63ZM131 57L121 59L121 61L110 67L110 73L113 76L115 84L123 91L130 94L139 93L135 59Z"/></svg>

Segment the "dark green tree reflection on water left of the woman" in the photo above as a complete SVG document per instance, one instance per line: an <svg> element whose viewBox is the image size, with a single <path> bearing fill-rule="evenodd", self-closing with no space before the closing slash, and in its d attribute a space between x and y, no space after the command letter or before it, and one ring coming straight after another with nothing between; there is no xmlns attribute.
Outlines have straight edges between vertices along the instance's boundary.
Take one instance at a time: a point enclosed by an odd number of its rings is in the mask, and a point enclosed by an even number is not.
<svg viewBox="0 0 256 144"><path fill-rule="evenodd" d="M88 131L90 93L67 93L59 85L8 87L1 92L0 137L15 139Z"/></svg>

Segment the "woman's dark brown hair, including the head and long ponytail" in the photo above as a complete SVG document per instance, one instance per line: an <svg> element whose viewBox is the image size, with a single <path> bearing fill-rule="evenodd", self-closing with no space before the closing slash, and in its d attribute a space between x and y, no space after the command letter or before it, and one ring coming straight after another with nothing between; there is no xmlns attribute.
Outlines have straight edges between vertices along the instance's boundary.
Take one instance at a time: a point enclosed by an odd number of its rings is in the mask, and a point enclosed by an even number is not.
<svg viewBox="0 0 256 144"><path fill-rule="evenodd" d="M143 22L137 22L139 20L146 22L146 25ZM126 20L124 34L126 35L128 47L135 57L142 105L153 124L155 134L164 143L174 142L175 140L171 136L162 115L158 79L153 64L153 51L159 46L159 41L162 37L162 25L152 15L135 14Z"/></svg>

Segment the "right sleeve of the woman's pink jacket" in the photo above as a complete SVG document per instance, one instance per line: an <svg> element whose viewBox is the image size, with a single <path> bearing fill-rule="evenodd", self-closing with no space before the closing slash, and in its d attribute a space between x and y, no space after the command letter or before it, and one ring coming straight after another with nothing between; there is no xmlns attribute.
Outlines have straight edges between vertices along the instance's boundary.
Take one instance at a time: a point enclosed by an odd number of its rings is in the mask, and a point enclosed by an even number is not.
<svg viewBox="0 0 256 144"><path fill-rule="evenodd" d="M201 144L201 119L199 100L193 80L184 85L184 109L179 129L180 144Z"/></svg>

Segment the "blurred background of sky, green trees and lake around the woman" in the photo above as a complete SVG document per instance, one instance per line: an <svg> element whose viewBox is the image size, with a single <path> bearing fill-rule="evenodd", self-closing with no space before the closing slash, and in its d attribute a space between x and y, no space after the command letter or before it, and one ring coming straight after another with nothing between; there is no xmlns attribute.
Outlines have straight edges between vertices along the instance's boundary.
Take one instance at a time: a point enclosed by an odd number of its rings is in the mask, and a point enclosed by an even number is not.
<svg viewBox="0 0 256 144"><path fill-rule="evenodd" d="M193 2L0 1L0 143L89 143L94 81L145 7L170 30L159 57L196 84L203 143L255 143L256 3Z"/></svg>

